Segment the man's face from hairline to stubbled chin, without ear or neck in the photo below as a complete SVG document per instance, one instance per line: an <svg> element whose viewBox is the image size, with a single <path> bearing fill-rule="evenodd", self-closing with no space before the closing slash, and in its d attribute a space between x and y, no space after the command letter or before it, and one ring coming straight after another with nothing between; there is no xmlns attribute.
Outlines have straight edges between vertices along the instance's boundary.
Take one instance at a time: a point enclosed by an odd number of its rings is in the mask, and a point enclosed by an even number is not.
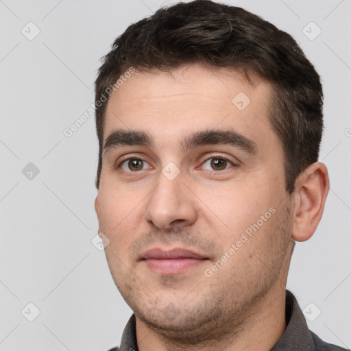
<svg viewBox="0 0 351 351"><path fill-rule="evenodd" d="M285 289L291 197L270 94L258 78L191 65L136 72L111 95L99 232L114 282L148 326L209 335Z"/></svg>

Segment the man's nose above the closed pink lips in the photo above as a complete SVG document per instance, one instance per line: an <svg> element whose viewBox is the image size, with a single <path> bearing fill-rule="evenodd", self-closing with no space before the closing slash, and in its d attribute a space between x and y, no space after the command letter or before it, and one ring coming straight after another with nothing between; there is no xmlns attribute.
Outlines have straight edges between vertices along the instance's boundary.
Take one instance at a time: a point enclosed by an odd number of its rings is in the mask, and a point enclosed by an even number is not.
<svg viewBox="0 0 351 351"><path fill-rule="evenodd" d="M173 180L160 173L158 180L148 197L146 220L164 230L191 225L197 217L195 195L184 183L182 173Z"/></svg>

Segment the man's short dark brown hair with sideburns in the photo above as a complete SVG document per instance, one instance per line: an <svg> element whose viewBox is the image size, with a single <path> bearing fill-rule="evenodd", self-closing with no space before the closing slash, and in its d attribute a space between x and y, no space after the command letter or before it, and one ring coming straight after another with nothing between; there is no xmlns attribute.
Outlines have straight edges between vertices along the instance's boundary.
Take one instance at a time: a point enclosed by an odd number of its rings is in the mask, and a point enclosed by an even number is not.
<svg viewBox="0 0 351 351"><path fill-rule="evenodd" d="M271 84L269 121L285 153L286 190L293 193L298 175L319 155L323 130L319 75L289 34L243 8L210 0L160 8L130 25L102 59L95 82L97 189L108 104L108 98L101 103L101 97L130 67L171 71L192 63L241 71L249 82L254 73Z"/></svg>

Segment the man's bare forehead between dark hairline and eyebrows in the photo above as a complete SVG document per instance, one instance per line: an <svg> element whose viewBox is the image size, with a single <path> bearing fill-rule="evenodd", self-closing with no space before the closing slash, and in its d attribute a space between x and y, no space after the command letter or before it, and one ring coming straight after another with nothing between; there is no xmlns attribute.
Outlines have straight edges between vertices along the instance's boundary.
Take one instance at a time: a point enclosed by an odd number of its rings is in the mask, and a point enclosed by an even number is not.
<svg viewBox="0 0 351 351"><path fill-rule="evenodd" d="M199 64L169 73L136 71L112 93L104 139L116 129L147 130L168 141L200 130L235 130L260 143L278 142L269 123L270 84ZM262 145L263 147L265 145Z"/></svg>

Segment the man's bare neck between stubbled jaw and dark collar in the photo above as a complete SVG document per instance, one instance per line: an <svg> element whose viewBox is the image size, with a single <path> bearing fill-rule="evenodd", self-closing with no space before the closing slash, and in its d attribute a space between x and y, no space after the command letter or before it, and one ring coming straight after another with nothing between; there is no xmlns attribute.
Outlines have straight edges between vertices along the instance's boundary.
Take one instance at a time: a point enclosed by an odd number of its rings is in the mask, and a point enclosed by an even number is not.
<svg viewBox="0 0 351 351"><path fill-rule="evenodd" d="M218 330L217 339L199 345L180 346L160 336L136 317L136 335L140 351L269 351L287 327L285 321L285 281L276 284L259 301L250 306L241 324L228 323ZM232 327L234 326L234 327Z"/></svg>

